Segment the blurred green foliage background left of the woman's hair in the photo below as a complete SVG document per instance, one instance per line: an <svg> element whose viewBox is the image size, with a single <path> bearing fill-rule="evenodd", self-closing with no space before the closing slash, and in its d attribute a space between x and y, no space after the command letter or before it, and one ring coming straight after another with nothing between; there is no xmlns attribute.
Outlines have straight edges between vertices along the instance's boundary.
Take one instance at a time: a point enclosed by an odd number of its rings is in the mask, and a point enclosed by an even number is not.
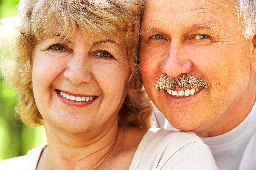
<svg viewBox="0 0 256 170"><path fill-rule="evenodd" d="M0 18L15 16L17 4L18 0L0 0ZM16 118L16 99L15 91L0 78L0 160L26 155L47 143L43 126L31 128Z"/></svg>

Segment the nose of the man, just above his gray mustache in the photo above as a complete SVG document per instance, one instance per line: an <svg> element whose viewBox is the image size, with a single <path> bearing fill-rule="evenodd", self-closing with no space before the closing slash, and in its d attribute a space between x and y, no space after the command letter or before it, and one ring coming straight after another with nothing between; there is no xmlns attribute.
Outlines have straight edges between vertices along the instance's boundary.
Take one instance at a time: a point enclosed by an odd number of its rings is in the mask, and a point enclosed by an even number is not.
<svg viewBox="0 0 256 170"><path fill-rule="evenodd" d="M167 54L161 63L161 70L170 77L176 77L192 70L192 63L184 56L182 47L178 43L169 46Z"/></svg>

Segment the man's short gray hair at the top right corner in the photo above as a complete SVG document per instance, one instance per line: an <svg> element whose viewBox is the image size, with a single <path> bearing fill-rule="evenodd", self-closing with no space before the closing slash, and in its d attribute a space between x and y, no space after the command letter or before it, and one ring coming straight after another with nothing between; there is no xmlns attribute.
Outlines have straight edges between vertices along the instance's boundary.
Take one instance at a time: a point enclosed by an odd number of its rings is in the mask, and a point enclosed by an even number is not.
<svg viewBox="0 0 256 170"><path fill-rule="evenodd" d="M236 0L238 17L244 22L243 35L246 39L256 34L256 0Z"/></svg>

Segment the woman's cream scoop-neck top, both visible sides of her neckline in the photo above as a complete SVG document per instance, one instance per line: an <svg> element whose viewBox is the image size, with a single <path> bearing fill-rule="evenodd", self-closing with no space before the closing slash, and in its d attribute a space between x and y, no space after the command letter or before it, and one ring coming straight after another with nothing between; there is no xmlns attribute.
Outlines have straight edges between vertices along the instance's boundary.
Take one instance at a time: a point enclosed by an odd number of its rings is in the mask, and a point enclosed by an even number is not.
<svg viewBox="0 0 256 170"><path fill-rule="evenodd" d="M36 170L41 146L27 155L0 161L1 170ZM210 149L192 132L150 128L141 140L129 170L216 170Z"/></svg>

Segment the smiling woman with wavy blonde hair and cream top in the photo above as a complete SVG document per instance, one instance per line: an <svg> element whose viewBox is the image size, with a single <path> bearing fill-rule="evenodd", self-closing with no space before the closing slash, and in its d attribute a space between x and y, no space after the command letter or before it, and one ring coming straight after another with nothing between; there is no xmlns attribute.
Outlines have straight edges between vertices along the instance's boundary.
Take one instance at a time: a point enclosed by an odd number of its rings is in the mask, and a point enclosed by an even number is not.
<svg viewBox="0 0 256 170"><path fill-rule="evenodd" d="M48 145L1 161L1 170L216 169L192 132L148 130L152 104L136 56L142 8L141 0L20 1L8 34L13 58L1 68L21 119L44 124Z"/></svg>

